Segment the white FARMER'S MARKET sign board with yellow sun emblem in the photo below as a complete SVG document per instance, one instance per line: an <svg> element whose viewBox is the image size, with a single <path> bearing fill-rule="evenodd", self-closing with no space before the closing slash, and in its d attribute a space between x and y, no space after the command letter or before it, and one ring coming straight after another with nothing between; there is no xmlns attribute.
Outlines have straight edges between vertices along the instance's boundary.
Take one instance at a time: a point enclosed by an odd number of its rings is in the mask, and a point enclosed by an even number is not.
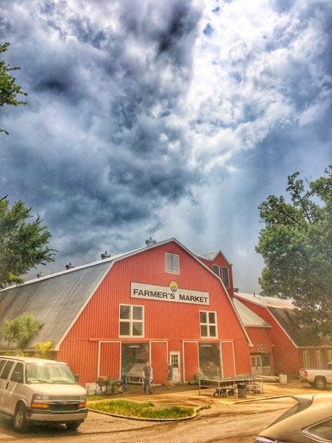
<svg viewBox="0 0 332 443"><path fill-rule="evenodd" d="M143 300L210 305L210 294L208 292L179 289L176 282L171 282L169 287L131 282L130 296Z"/></svg>

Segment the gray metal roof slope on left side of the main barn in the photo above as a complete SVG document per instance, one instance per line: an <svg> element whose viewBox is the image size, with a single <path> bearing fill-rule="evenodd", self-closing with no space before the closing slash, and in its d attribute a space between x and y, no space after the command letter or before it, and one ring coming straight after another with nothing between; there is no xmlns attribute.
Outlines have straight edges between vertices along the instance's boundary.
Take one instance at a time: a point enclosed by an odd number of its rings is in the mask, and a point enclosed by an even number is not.
<svg viewBox="0 0 332 443"><path fill-rule="evenodd" d="M112 266L104 260L81 266L0 291L0 325L9 318L33 314L44 323L33 343L53 341L54 349L89 302L95 289ZM6 348L2 343L1 348Z"/></svg>

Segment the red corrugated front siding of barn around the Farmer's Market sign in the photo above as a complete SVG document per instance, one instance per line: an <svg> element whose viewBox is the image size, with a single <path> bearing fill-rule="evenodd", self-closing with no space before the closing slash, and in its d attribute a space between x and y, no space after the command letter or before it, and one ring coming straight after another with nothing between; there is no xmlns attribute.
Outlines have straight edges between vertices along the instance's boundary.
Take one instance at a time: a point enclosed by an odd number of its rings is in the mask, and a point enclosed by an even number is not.
<svg viewBox="0 0 332 443"><path fill-rule="evenodd" d="M180 275L165 272L165 252L180 255ZM168 287L176 280L182 289L192 289L210 293L210 306L190 305L162 300L141 300L130 297L131 282L156 284ZM119 338L119 305L145 305L145 337ZM218 323L218 341L233 340L237 343L237 352L241 354L241 372L250 372L250 353L248 341L234 314L231 302L225 295L218 279L196 262L176 242L170 242L156 248L133 255L116 262L109 274L80 317L68 333L62 349L68 350L67 361L75 361L79 368L84 368L86 381L95 381L98 341L121 340L122 342L142 342L150 340L169 340L177 343L174 349L182 350L183 340L201 340L199 311L216 311ZM75 350L80 339L85 345L80 352ZM93 342L87 342L92 340ZM205 338L204 341L207 341ZM215 340L214 340L215 341ZM86 343L89 345L86 346ZM64 351L62 351L64 352ZM71 358L71 352L75 355ZM168 356L166 357L168 358ZM196 356L195 356L196 359ZM163 357L163 363L165 358ZM243 363L246 360L246 363ZM118 363L114 363L115 365ZM156 365L156 363L154 363ZM192 363L189 363L192 365ZM197 368L197 365L196 365ZM118 366L117 370L120 369ZM245 370L246 369L246 370ZM195 369L196 370L196 369ZM80 372L80 371L79 371Z"/></svg>

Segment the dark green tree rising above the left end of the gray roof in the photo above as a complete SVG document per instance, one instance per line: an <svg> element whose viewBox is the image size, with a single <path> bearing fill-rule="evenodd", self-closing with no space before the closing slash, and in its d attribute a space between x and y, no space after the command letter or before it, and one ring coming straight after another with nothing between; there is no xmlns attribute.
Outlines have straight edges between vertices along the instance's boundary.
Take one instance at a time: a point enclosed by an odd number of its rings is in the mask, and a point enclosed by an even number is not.
<svg viewBox="0 0 332 443"><path fill-rule="evenodd" d="M29 221L30 211L21 200L10 208L6 197L0 199L0 287L21 283L20 275L54 261L55 251L46 246L50 232L39 215Z"/></svg>

